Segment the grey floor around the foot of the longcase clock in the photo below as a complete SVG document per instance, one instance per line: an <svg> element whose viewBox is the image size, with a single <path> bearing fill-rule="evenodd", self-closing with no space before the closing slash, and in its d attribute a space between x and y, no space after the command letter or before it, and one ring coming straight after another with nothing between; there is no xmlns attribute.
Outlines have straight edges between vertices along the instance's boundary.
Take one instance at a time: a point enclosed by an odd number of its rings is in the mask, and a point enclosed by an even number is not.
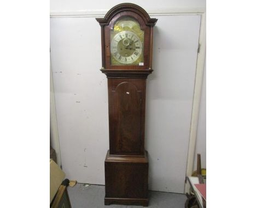
<svg viewBox="0 0 256 208"><path fill-rule="evenodd" d="M104 205L105 187L77 183L68 187L72 208L142 208L143 206ZM187 197L184 194L149 191L149 206L152 208L184 208Z"/></svg>

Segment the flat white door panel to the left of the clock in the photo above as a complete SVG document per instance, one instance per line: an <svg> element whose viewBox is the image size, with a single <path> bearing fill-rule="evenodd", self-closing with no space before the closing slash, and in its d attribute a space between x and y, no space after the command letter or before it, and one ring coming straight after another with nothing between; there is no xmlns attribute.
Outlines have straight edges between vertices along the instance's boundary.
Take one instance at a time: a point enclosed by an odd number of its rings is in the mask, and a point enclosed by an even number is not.
<svg viewBox="0 0 256 208"><path fill-rule="evenodd" d="M99 70L100 41L95 18L50 20L62 168L69 179L95 184L104 184L109 145L107 78Z"/></svg>

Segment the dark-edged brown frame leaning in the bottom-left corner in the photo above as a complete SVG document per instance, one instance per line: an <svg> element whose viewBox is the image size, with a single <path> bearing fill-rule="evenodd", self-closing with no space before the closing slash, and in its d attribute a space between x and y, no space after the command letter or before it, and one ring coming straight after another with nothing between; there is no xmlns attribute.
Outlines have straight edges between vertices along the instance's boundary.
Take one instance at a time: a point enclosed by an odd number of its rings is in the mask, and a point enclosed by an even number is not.
<svg viewBox="0 0 256 208"><path fill-rule="evenodd" d="M69 180L65 179L60 185L59 190L57 191L50 208L71 208L70 200L68 197L67 192L67 186L68 186Z"/></svg>

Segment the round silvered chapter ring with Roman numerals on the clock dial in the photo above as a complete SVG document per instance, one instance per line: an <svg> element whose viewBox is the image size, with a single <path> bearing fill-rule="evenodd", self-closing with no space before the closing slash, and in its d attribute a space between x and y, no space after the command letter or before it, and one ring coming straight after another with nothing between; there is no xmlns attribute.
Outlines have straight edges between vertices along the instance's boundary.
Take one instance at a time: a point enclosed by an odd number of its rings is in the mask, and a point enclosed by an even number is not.
<svg viewBox="0 0 256 208"><path fill-rule="evenodd" d="M120 64L135 63L142 50L141 40L129 30L115 34L110 42L111 55Z"/></svg>

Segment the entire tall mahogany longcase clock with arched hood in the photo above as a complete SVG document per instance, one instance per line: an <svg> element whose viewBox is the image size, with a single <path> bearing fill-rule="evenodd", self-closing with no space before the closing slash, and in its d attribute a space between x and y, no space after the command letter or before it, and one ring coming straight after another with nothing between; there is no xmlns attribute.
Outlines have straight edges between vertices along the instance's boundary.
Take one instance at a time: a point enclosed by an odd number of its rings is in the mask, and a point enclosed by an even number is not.
<svg viewBox="0 0 256 208"><path fill-rule="evenodd" d="M136 4L123 3L96 20L101 26L101 71L108 78L104 203L148 206L146 79L153 71L153 27L157 19Z"/></svg>

